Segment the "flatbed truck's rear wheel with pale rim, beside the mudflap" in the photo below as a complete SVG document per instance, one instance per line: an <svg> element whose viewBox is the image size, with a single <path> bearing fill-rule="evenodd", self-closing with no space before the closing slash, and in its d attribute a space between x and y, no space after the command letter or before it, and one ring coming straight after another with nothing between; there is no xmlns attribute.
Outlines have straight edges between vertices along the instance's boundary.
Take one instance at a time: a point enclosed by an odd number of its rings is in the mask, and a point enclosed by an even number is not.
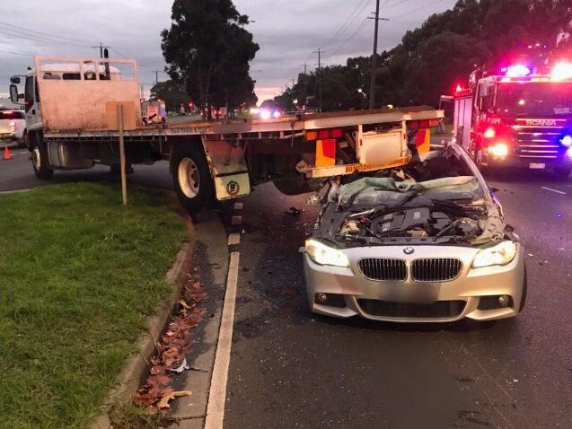
<svg viewBox="0 0 572 429"><path fill-rule="evenodd" d="M184 146L173 153L172 180L180 203L189 212L196 213L208 206L213 182L202 146Z"/></svg>

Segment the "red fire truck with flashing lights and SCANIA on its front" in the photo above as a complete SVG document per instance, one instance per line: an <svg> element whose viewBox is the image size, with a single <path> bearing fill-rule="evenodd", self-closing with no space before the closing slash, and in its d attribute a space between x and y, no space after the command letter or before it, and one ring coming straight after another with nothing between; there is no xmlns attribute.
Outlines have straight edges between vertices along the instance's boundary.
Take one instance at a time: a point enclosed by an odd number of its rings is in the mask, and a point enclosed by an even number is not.
<svg viewBox="0 0 572 429"><path fill-rule="evenodd" d="M572 171L572 63L473 72L454 95L453 134L482 169Z"/></svg>

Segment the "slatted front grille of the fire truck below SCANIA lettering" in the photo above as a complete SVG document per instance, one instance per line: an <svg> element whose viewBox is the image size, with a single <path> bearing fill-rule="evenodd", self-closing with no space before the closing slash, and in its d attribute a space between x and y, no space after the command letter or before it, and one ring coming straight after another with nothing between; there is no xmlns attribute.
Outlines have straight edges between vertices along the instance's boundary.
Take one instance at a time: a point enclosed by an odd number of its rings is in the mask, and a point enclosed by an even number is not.
<svg viewBox="0 0 572 429"><path fill-rule="evenodd" d="M518 132L516 155L519 158L556 159L564 127L515 127Z"/></svg>

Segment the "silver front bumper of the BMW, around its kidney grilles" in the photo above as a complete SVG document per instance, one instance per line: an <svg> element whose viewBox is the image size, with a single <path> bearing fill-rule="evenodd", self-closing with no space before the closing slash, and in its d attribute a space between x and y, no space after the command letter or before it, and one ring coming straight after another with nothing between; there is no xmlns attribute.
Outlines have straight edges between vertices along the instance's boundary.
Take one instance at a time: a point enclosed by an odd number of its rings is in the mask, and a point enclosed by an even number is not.
<svg viewBox="0 0 572 429"><path fill-rule="evenodd" d="M406 255L404 249L404 246L377 246L344 250L350 267L322 266L304 254L304 277L311 310L339 318L361 316L396 322L497 320L518 314L526 287L520 245L509 264L481 268L472 267L479 252L476 248L414 246L410 255ZM359 267L358 261L362 258L401 259L407 275L397 281L370 280ZM450 281L415 280L413 262L430 258L457 258L462 267ZM508 298L506 306L498 303L500 296Z"/></svg>

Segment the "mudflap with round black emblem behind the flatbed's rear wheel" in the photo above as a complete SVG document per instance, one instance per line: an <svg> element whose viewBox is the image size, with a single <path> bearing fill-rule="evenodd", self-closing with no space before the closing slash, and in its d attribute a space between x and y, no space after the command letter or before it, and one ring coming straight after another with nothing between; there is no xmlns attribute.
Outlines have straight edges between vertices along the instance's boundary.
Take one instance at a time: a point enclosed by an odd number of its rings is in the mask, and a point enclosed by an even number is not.
<svg viewBox="0 0 572 429"><path fill-rule="evenodd" d="M224 201L251 195L251 179L240 144L205 137L202 142L215 183L216 199Z"/></svg>

